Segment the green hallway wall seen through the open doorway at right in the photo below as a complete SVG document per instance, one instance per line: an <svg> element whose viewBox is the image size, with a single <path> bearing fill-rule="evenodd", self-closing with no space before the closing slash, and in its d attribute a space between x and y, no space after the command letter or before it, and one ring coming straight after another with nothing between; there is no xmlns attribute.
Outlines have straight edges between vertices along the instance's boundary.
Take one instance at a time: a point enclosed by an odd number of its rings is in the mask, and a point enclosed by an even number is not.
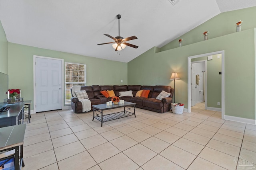
<svg viewBox="0 0 256 170"><path fill-rule="evenodd" d="M218 58L219 56L219 58ZM212 60L207 60L207 57L199 57L191 59L193 61L206 60L207 62L207 107L221 108L221 54L212 55ZM220 105L217 105L220 102Z"/></svg>

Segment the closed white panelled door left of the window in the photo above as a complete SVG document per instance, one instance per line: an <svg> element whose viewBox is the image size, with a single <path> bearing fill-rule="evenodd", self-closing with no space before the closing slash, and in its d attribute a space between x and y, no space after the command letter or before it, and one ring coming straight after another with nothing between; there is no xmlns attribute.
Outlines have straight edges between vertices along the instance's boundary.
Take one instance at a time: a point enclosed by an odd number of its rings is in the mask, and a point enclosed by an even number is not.
<svg viewBox="0 0 256 170"><path fill-rule="evenodd" d="M36 58L36 112L62 109L62 61Z"/></svg>

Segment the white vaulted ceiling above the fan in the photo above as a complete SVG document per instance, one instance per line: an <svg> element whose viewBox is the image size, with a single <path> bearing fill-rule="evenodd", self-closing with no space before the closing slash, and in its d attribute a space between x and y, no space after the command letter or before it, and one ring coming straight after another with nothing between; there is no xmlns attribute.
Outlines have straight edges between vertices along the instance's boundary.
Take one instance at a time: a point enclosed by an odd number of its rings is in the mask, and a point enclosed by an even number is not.
<svg viewBox="0 0 256 170"><path fill-rule="evenodd" d="M256 6L256 0L0 0L0 21L8 42L114 61L129 62L162 47L210 18ZM138 37L118 53L118 36Z"/></svg>

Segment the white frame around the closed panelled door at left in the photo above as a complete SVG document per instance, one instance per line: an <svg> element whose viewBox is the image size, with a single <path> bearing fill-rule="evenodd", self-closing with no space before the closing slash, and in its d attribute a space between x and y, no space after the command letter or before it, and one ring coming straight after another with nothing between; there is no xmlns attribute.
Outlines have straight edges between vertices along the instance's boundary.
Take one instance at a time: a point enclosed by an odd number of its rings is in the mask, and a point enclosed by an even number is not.
<svg viewBox="0 0 256 170"><path fill-rule="evenodd" d="M60 60L61 61L61 67L62 67L62 70L61 70L61 75L62 75L62 88L61 88L61 107L63 109L63 106L64 106L64 80L63 80L63 77L64 77L64 72L63 72L63 68L64 68L64 60L63 59L56 59L56 58L51 58L51 57L43 57L43 56L38 56L38 55L33 55L33 91L34 91L34 95L33 95L33 98L34 98L34 113L36 113L36 58L42 58L42 59L51 59L51 60Z"/></svg>

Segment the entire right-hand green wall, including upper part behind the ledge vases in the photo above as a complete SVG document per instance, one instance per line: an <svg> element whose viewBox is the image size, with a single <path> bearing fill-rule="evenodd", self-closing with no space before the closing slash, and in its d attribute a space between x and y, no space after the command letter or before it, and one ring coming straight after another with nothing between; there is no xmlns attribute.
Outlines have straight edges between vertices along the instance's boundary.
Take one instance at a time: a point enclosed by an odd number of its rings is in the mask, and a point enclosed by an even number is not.
<svg viewBox="0 0 256 170"><path fill-rule="evenodd" d="M206 21L162 48L153 47L128 63L129 84L170 85L178 72L175 100L188 101L188 57L224 50L225 115L255 119L256 7L224 12ZM242 20L242 31L235 23ZM202 33L210 31L207 41ZM182 38L182 47L178 39ZM222 56L223 57L223 56ZM137 83L138 82L138 83ZM245 107L244 107L245 106Z"/></svg>

